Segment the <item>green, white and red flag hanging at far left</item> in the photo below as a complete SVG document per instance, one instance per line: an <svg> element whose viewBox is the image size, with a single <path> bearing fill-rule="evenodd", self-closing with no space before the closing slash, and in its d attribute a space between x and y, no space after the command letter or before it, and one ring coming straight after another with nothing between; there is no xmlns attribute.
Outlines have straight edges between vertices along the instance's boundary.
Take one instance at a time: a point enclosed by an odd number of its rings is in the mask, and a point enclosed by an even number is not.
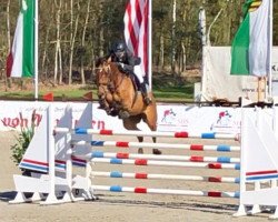
<svg viewBox="0 0 278 222"><path fill-rule="evenodd" d="M34 77L34 0L22 0L11 51L7 59L7 77Z"/></svg>

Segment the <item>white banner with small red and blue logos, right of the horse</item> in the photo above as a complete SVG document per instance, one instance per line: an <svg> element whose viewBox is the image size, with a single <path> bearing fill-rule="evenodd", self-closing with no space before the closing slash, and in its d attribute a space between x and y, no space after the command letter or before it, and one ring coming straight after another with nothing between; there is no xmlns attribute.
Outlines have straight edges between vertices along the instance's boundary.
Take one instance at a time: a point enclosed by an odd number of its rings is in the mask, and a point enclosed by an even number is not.
<svg viewBox="0 0 278 222"><path fill-rule="evenodd" d="M158 110L160 131L240 132L240 109L165 104Z"/></svg>

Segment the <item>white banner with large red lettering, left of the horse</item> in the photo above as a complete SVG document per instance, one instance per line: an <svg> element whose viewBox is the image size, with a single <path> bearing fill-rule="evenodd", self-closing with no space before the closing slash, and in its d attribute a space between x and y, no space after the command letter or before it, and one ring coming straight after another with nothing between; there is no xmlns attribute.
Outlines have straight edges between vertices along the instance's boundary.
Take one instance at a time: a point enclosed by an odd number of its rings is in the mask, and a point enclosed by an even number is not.
<svg viewBox="0 0 278 222"><path fill-rule="evenodd" d="M73 123L77 122L82 114L87 103L67 103L52 102L53 104L53 121L59 121L63 115L67 105L71 104ZM49 105L49 102L26 102L26 101L0 101L0 131L18 130L21 128L31 127L31 117L36 110L34 125L39 125L42 113ZM118 118L112 118L106 114L103 110L98 109L97 103L92 103L93 119L91 121L92 129L115 129L122 128L122 122Z"/></svg>

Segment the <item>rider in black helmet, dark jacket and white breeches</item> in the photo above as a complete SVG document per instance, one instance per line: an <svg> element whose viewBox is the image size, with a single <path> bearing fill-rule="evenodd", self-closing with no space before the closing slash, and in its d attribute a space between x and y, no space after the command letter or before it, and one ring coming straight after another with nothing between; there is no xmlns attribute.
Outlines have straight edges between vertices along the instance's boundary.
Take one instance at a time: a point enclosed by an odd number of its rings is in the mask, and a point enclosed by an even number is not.
<svg viewBox="0 0 278 222"><path fill-rule="evenodd" d="M113 44L109 57L111 57L113 62L119 63L120 69L123 72L131 73L137 77L140 82L140 91L142 93L143 101L147 105L149 105L151 103L151 99L148 97L147 87L139 67L141 59L131 54L125 41L117 41Z"/></svg>

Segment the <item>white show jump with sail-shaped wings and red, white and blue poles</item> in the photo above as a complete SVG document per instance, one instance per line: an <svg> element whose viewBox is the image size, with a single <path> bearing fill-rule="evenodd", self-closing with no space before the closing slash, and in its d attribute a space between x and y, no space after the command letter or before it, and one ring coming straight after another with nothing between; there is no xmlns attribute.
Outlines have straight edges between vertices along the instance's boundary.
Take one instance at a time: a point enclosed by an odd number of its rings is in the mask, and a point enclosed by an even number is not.
<svg viewBox="0 0 278 222"><path fill-rule="evenodd" d="M41 204L56 204L78 200L95 200L96 191L133 192L150 194L177 194L210 198L236 198L239 199L239 210L235 215L258 213L261 208L275 208L271 218L278 218L278 133L277 110L254 110L242 108L241 147L230 145L202 145L202 144L167 144L167 143L137 143L125 141L96 141L92 134L100 135L133 135L133 137L162 137L162 138L199 138L199 139L237 139L236 135L190 132L141 132L125 131L113 132L111 130L90 129L92 117L91 104L88 103L77 128L72 125L72 109L66 108L64 117L54 128L51 119L51 105L42 117L34 137L28 148L20 167L37 171L32 176L14 175L16 190L18 192L12 203L38 201ZM254 112L257 119L254 120ZM250 115L252 113L252 115ZM39 148L39 149L38 149ZM96 148L101 150L96 150ZM179 149L187 151L211 151L211 152L238 152L239 158L230 157L203 157L203 155L153 155L127 152L106 152L102 149L119 148L162 148ZM240 164L239 164L240 162ZM91 164L92 163L92 164ZM95 170L95 164L119 164L138 165L148 168L206 168L211 170L227 169L240 170L240 179L237 176L203 176L203 175L179 175L171 173L147 173L147 172L121 172L116 169L110 172ZM85 174L73 174L73 167L83 167ZM222 171L221 171L222 172ZM225 171L226 172L226 171ZM96 178L110 179L135 179L135 180L179 180L202 181L217 183L240 183L239 191L193 191L182 189L146 188L129 185L102 185L96 184ZM271 184L266 188L266 184ZM254 183L254 190L247 185ZM264 189L261 184L264 183ZM78 191L78 192L77 192ZM24 192L33 192L31 199L24 196ZM47 194L47 198L44 195ZM247 212L246 205L252 205Z"/></svg>

